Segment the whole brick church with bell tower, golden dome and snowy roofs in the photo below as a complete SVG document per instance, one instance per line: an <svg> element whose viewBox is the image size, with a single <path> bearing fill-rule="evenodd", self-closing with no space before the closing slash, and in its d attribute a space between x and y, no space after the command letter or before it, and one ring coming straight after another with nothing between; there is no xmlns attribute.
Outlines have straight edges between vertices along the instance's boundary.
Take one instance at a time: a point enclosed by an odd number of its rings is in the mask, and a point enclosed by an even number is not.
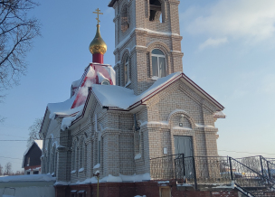
<svg viewBox="0 0 275 197"><path fill-rule="evenodd" d="M56 177L56 196L95 196L96 173L102 188L134 188L154 179L152 158L218 155L215 121L225 117L223 105L185 75L179 3L111 0L113 66L103 62L108 43L96 10L92 62L71 83L71 98L48 104L43 117L42 173ZM120 194L106 191L100 196L124 196L121 187ZM125 196L153 196L135 191Z"/></svg>

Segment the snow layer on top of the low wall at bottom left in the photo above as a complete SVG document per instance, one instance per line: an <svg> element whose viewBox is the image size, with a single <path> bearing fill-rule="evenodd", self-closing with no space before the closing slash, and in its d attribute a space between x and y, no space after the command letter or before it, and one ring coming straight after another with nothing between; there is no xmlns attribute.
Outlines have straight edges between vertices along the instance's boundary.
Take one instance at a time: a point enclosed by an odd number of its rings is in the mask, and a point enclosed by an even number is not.
<svg viewBox="0 0 275 197"><path fill-rule="evenodd" d="M1 182L51 182L56 178L48 174L32 174L32 175L15 175L0 177Z"/></svg>

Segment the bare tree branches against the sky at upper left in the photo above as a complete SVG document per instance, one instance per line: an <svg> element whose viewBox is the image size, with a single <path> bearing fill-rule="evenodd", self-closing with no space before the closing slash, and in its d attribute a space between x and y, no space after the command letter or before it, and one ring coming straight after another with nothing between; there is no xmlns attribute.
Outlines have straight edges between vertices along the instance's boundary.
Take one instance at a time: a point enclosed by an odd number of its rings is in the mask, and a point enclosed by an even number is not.
<svg viewBox="0 0 275 197"><path fill-rule="evenodd" d="M40 35L40 23L28 13L38 6L33 0L0 0L0 102L3 91L19 84L25 74L25 57ZM0 123L5 120L0 117Z"/></svg>

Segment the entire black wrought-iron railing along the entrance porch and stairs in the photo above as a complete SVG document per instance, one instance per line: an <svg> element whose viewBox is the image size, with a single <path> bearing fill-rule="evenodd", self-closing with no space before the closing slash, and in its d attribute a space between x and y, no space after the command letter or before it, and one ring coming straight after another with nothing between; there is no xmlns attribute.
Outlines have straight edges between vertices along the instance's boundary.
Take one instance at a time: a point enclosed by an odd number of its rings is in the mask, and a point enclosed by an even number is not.
<svg viewBox="0 0 275 197"><path fill-rule="evenodd" d="M228 156L168 155L150 159L153 180L177 183L231 184L253 193L275 191L275 164L262 156L233 159ZM274 192L272 193L274 195ZM256 195L255 195L256 196ZM257 195L258 196L258 195Z"/></svg>

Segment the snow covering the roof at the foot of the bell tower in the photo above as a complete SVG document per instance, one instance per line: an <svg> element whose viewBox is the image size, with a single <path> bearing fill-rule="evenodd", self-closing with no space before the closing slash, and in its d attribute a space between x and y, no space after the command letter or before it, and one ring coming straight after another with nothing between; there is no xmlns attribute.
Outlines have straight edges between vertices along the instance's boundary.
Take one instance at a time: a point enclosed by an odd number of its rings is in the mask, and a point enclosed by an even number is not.
<svg viewBox="0 0 275 197"><path fill-rule="evenodd" d="M173 80L179 75L181 75L181 72L175 72L156 80L149 89L140 95L135 95L133 89L127 89L121 86L100 86L93 84L92 91L102 106L128 109L131 105L142 98L146 98L149 94L156 91L156 89L162 87L167 81Z"/></svg>

